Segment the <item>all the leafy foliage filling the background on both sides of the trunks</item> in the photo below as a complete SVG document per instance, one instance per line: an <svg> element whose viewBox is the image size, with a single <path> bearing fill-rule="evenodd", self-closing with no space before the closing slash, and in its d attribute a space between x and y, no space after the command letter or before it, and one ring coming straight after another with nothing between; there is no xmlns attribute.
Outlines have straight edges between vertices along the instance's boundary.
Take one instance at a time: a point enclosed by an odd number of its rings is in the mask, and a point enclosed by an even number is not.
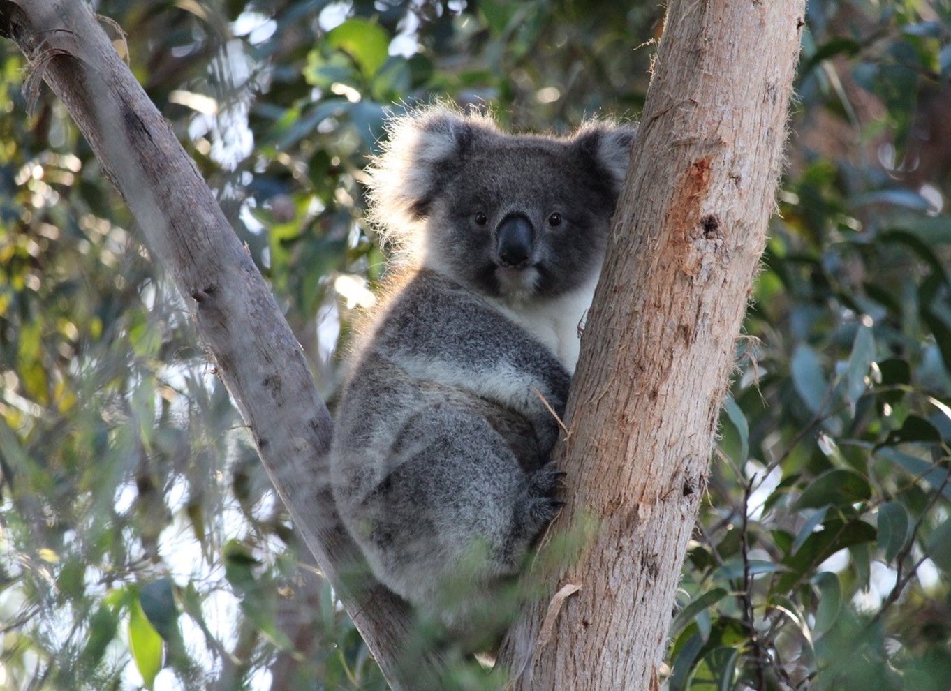
<svg viewBox="0 0 951 691"><path fill-rule="evenodd" d="M653 3L107 0L332 400L393 104L635 116ZM630 5L630 4L629 4ZM809 4L780 215L666 660L674 689L951 685L951 6ZM382 689L184 302L0 46L0 688ZM396 106L399 107L399 106ZM943 134L942 134L943 133ZM497 685L457 661L459 688Z"/></svg>

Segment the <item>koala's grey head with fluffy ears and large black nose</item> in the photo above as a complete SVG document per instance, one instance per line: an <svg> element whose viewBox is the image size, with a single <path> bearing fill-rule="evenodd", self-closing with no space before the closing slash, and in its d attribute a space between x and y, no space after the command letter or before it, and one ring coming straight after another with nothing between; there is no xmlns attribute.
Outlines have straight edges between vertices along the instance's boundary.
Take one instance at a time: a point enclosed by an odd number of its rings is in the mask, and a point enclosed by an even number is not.
<svg viewBox="0 0 951 691"><path fill-rule="evenodd" d="M601 266L635 125L510 135L429 106L391 122L369 168L370 215L423 266L485 295L553 297Z"/></svg>

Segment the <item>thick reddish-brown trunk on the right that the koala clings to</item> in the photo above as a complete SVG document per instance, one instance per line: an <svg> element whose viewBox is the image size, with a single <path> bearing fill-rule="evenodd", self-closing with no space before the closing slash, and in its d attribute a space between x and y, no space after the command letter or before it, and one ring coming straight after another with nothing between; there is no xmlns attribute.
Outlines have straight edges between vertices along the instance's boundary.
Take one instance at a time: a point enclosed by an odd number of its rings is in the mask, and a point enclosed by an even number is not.
<svg viewBox="0 0 951 691"><path fill-rule="evenodd" d="M775 206L805 0L670 0L568 406L587 538L501 656L515 689L656 689ZM539 565L544 560L539 560ZM579 588L579 589L576 589Z"/></svg>

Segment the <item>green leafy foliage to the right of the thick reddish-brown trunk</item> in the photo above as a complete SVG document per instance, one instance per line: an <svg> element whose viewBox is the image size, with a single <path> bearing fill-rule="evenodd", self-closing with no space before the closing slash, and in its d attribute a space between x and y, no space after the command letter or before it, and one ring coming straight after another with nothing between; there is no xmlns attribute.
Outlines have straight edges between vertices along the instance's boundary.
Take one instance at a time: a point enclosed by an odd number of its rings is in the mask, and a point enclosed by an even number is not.
<svg viewBox="0 0 951 691"><path fill-rule="evenodd" d="M948 152L920 129L947 93L951 6L923 5L810 3L758 342L722 413L671 689L951 675ZM738 660L717 653L725 630Z"/></svg>

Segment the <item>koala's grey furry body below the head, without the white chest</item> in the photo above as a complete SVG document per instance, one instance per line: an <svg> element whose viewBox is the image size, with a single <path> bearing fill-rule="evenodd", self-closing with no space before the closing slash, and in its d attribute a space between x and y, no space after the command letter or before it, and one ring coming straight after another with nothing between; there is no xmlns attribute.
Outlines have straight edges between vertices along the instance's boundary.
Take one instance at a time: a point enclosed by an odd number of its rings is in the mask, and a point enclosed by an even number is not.
<svg viewBox="0 0 951 691"><path fill-rule="evenodd" d="M568 385L546 347L435 272L388 300L332 450L340 514L384 585L452 625L473 609L456 577L483 592L518 571L557 506L543 467L556 421L539 395L560 412Z"/></svg>

